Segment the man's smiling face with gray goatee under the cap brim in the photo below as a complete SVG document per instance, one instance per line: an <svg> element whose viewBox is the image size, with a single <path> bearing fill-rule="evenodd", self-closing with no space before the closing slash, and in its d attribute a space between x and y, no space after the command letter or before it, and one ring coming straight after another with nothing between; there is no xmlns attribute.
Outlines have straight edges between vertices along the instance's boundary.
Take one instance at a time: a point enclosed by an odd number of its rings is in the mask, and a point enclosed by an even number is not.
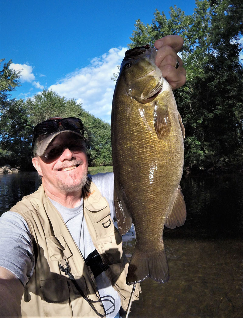
<svg viewBox="0 0 243 318"><path fill-rule="evenodd" d="M34 167L42 176L43 186L54 195L60 191L66 194L80 191L87 182L88 159L85 142L79 141L81 142L80 151L72 151L72 146L77 143L77 139L80 137L72 133L57 135L50 142L46 152L56 151L55 145L59 145L63 147L63 152L58 158L46 159L42 156L32 159Z"/></svg>

